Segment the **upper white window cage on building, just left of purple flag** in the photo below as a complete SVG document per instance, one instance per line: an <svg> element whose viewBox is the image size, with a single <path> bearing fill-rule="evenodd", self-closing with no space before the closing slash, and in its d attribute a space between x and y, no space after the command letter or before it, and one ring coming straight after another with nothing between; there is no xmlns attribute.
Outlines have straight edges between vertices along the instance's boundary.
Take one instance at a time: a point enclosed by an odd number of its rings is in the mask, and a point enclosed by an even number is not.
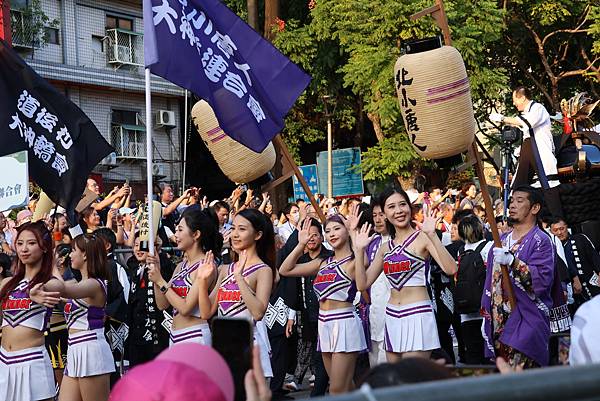
<svg viewBox="0 0 600 401"><path fill-rule="evenodd" d="M124 29L106 30L106 57L108 63L119 68L123 65L144 64L144 36Z"/></svg>

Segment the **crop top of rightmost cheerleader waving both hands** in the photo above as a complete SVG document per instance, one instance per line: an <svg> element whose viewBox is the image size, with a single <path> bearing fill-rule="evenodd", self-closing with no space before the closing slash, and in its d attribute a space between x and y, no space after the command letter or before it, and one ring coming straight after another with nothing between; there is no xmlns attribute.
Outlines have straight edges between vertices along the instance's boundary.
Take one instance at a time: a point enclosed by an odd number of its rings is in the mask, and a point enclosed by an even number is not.
<svg viewBox="0 0 600 401"><path fill-rule="evenodd" d="M400 245L390 238L390 251L383 255L383 273L395 290L402 287L425 287L429 279L429 260L425 260L406 249L419 235L415 231Z"/></svg>

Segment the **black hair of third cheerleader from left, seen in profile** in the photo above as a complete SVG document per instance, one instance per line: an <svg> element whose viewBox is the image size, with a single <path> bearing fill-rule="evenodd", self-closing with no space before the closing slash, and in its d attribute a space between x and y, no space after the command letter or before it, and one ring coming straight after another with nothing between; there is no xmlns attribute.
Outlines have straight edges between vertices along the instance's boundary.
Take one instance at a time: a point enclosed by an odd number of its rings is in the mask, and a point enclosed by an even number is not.
<svg viewBox="0 0 600 401"><path fill-rule="evenodd" d="M215 258L221 256L223 248L223 235L219 232L219 220L212 208L200 210L198 208L186 209L181 216L190 231L200 231L198 245L202 252L212 251Z"/></svg>

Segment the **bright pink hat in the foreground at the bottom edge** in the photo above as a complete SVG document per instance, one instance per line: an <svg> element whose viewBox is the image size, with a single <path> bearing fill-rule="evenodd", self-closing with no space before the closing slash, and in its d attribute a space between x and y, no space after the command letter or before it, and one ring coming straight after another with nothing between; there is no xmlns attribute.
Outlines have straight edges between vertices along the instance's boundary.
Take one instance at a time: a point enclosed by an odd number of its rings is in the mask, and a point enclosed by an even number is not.
<svg viewBox="0 0 600 401"><path fill-rule="evenodd" d="M110 401L233 401L233 377L211 347L175 345L119 380Z"/></svg>

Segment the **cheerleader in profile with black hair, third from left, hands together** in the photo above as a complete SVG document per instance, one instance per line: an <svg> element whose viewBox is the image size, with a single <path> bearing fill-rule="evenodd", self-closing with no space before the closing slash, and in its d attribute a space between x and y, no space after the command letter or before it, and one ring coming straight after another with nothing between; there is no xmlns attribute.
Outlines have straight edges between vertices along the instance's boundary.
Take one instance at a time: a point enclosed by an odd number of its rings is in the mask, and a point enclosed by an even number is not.
<svg viewBox="0 0 600 401"><path fill-rule="evenodd" d="M194 342L211 345L211 334L206 318L198 307L198 286L196 275L204 264L206 252L221 254L223 237L219 233L217 218L207 210L194 208L186 210L175 230L177 248L185 252L185 259L177 266L171 281L167 283L160 270L158 255L148 255L148 278L154 283L156 304L160 309L173 306L173 326L171 345L180 342ZM217 281L213 272L209 277L212 289Z"/></svg>

